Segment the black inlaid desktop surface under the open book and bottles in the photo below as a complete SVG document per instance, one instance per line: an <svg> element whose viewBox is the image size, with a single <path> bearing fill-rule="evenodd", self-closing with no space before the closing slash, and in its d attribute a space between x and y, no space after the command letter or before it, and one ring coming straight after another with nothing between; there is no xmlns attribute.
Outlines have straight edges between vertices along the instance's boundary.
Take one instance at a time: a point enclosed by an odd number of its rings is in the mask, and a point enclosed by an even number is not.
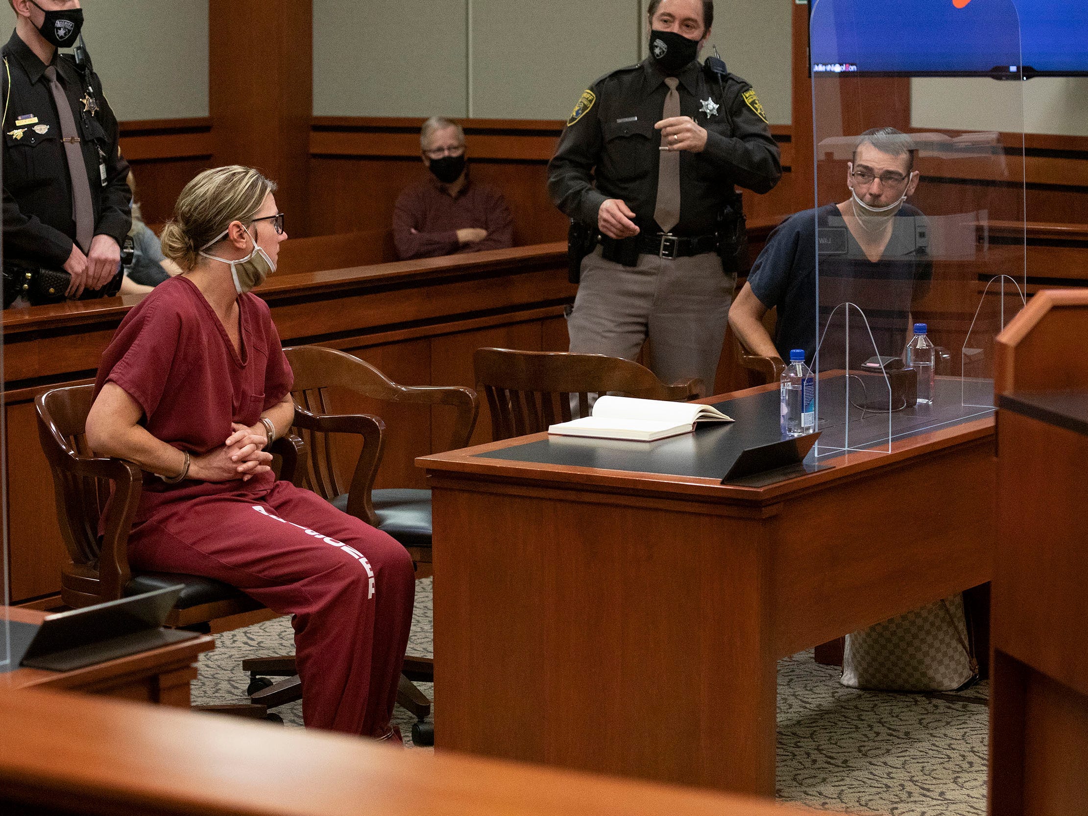
<svg viewBox="0 0 1088 816"><path fill-rule="evenodd" d="M861 390L851 378L851 400L861 404ZM819 429L824 432L806 462L839 456L846 445L845 419L846 378L834 376L820 381ZM992 394L992 388L990 390ZM902 440L940 428L956 425L993 413L993 408L963 405L963 391L959 379L937 381L937 400L929 407L908 408L894 413L873 413L850 409L849 446L861 450L874 445L887 445L889 417L891 438ZM657 442L623 442L574 436L548 436L540 442L475 454L486 459L564 465L569 467L599 468L640 473L721 479L745 448L778 442L782 438L779 428L779 394L767 391L735 399L716 403L715 407L732 417L735 422L704 423L694 433L672 436ZM877 448L879 449L879 448Z"/></svg>

